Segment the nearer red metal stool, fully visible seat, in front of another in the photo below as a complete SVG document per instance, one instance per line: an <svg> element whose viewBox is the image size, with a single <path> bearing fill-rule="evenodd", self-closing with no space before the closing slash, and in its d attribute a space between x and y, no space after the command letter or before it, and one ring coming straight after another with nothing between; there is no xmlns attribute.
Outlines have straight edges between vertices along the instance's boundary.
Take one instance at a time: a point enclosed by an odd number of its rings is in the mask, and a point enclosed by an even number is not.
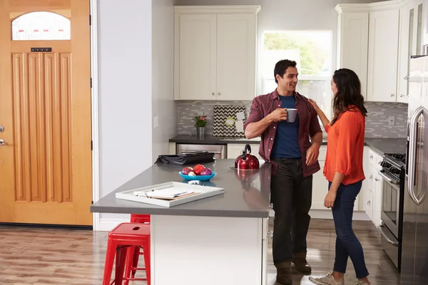
<svg viewBox="0 0 428 285"><path fill-rule="evenodd" d="M135 247L143 247L147 276L147 279L144 280L147 280L148 285L151 284L150 224L122 223L108 233L103 285L122 284L127 252L134 252ZM115 279L111 281L111 271L113 271L115 255Z"/></svg>

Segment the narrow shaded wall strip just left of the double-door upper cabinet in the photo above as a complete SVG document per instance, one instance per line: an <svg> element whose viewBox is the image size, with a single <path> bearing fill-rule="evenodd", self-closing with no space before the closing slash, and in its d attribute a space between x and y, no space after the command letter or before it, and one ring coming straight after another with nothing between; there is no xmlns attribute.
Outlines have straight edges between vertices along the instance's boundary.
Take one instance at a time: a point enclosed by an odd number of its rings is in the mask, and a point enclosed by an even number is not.
<svg viewBox="0 0 428 285"><path fill-rule="evenodd" d="M152 7L152 77L153 116L158 128L153 129L153 162L168 154L168 140L177 132L177 110L174 104L174 1L153 0Z"/></svg>

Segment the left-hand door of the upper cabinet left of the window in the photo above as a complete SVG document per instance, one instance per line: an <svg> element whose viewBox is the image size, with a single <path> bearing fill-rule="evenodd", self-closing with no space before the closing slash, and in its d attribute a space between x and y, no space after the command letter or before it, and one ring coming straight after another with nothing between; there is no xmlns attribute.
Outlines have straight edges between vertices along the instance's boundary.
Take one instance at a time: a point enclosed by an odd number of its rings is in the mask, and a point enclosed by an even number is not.
<svg viewBox="0 0 428 285"><path fill-rule="evenodd" d="M180 68L175 76L178 76L179 98L215 100L217 16L182 14L178 17Z"/></svg>

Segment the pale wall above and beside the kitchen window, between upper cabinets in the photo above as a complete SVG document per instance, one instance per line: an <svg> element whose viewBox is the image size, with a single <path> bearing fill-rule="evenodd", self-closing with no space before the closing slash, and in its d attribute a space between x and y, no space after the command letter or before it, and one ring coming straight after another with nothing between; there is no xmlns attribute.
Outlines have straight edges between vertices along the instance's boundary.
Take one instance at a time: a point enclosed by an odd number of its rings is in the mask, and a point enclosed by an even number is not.
<svg viewBox="0 0 428 285"><path fill-rule="evenodd" d="M379 0L176 0L176 5L260 5L258 14L258 51L263 50L263 31L330 30L333 32L332 67L336 66L337 12L339 3L372 3ZM258 53L258 65L261 63ZM273 71L272 71L273 72ZM258 68L257 93L261 93Z"/></svg>

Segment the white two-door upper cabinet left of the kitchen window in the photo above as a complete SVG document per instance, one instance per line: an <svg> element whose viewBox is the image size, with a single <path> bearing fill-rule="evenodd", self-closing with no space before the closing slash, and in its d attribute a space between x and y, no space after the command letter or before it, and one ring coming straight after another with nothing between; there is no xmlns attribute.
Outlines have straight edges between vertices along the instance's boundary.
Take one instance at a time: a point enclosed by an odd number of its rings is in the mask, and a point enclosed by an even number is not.
<svg viewBox="0 0 428 285"><path fill-rule="evenodd" d="M175 6L175 100L253 100L260 6Z"/></svg>

